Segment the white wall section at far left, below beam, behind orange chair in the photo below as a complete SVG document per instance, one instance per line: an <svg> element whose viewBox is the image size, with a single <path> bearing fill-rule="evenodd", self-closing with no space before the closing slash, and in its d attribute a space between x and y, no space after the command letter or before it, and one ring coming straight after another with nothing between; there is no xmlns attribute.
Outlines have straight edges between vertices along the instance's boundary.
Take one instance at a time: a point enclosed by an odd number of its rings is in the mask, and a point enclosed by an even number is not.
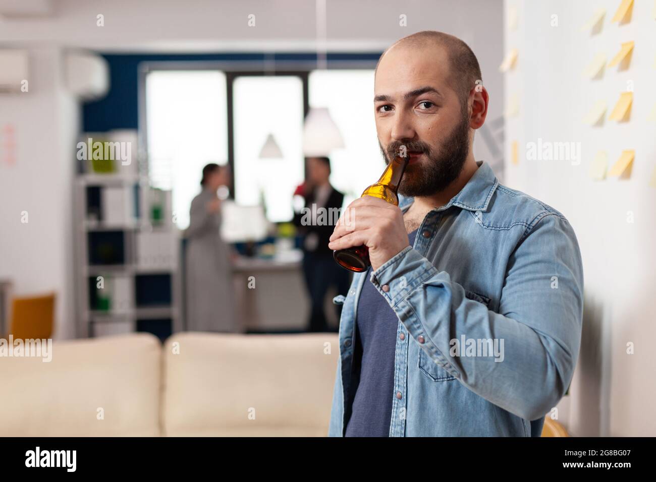
<svg viewBox="0 0 656 482"><path fill-rule="evenodd" d="M62 86L60 55L55 48L32 49L28 92L0 94L0 127L11 125L16 141L16 162L0 159L0 278L11 279L18 296L55 291L54 337L70 338L73 140L79 115Z"/></svg>

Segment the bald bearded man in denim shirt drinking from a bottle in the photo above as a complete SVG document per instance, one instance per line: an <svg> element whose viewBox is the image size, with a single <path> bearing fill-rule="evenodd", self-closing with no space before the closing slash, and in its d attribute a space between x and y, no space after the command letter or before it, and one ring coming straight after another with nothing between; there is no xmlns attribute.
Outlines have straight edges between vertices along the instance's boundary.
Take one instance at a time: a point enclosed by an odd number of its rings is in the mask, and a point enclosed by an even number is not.
<svg viewBox="0 0 656 482"><path fill-rule="evenodd" d="M569 222L472 151L489 95L457 37L380 57L374 112L400 205L361 197L329 248L367 245L342 303L330 436L539 437L579 354L583 268ZM372 173L375 174L375 173Z"/></svg>

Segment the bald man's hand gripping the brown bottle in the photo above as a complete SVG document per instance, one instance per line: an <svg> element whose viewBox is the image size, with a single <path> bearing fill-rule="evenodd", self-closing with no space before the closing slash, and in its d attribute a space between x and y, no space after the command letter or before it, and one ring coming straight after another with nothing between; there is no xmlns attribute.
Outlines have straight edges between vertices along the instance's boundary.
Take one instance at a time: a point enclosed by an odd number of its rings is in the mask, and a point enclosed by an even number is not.
<svg viewBox="0 0 656 482"><path fill-rule="evenodd" d="M377 197L363 196L342 213L328 247L338 250L366 245L375 271L409 244L401 209Z"/></svg>

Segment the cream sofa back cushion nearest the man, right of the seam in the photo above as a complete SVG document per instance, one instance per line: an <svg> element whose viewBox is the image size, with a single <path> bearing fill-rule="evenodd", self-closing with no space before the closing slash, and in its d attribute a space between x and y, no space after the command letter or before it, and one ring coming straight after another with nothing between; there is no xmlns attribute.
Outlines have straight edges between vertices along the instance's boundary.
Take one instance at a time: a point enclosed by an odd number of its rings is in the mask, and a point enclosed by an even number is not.
<svg viewBox="0 0 656 482"><path fill-rule="evenodd" d="M338 356L334 333L174 335L163 435L323 437Z"/></svg>

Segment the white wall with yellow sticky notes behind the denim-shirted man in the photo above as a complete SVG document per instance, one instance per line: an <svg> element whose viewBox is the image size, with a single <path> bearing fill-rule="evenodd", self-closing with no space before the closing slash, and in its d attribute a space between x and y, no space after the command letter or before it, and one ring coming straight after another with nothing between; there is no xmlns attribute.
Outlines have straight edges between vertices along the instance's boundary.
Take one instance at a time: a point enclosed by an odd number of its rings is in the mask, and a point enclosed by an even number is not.
<svg viewBox="0 0 656 482"><path fill-rule="evenodd" d="M518 8L518 29L506 31L505 47L519 49L516 69L505 77L506 98L518 92L520 115L506 122L506 184L563 212L573 225L583 255L585 314L579 365L561 422L574 435L655 435L656 167L655 124L646 122L656 104L653 78L656 43L653 1L636 0L632 20L611 23L619 0L549 2L506 0ZM605 7L603 29L581 32L594 10ZM552 15L558 26L552 27ZM607 62L625 41L635 41L630 67L605 68L600 79L583 76L597 52ZM619 94L634 83L630 121L608 121ZM602 126L583 117L598 99L607 101ZM582 161L528 161L528 142L580 142ZM512 165L510 142L519 142L520 163ZM636 150L630 178L594 182L588 175L596 151L609 167L622 150ZM574 161L575 164L575 161ZM632 214L631 214L632 213ZM634 222L628 222L630 216ZM635 353L626 354L634 343ZM567 407L569 405L569 407Z"/></svg>

